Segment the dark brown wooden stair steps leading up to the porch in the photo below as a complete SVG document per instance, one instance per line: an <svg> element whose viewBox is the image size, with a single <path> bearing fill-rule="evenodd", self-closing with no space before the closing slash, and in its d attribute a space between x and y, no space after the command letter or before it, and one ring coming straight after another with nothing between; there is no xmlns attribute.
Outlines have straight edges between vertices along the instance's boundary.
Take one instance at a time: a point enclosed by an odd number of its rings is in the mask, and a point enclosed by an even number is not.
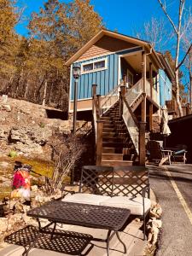
<svg viewBox="0 0 192 256"><path fill-rule="evenodd" d="M119 101L103 114L101 120L102 166L132 166L134 146L124 120L119 117Z"/></svg>

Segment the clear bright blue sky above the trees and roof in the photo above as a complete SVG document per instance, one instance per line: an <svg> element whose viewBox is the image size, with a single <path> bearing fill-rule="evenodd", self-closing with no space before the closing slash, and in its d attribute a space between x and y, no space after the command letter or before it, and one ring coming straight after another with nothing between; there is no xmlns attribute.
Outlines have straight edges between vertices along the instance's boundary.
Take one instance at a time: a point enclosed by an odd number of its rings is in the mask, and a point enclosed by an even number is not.
<svg viewBox="0 0 192 256"><path fill-rule="evenodd" d="M26 7L24 12L26 21L20 22L20 25L16 27L17 32L24 36L27 35L27 19L33 11L38 12L44 2L44 0L19 0L18 5ZM168 8L171 10L174 20L177 16L178 0L166 0L166 2L169 3ZM90 3L94 6L95 11L102 16L104 24L109 30L116 29L127 35L134 35L134 31L142 28L143 23L151 20L153 16L165 17L157 0L90 0ZM190 0L186 0L186 3L187 6L191 4Z"/></svg>

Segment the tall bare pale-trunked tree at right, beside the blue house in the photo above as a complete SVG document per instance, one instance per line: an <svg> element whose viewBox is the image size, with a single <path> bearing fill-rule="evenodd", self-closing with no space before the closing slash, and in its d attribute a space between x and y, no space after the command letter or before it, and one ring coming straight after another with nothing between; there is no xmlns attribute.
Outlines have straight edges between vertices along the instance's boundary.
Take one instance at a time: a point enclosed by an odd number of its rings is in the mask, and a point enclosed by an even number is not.
<svg viewBox="0 0 192 256"><path fill-rule="evenodd" d="M186 55L184 55L183 60L179 63L180 44L181 44L181 39L183 37L183 34L187 32L189 29L191 17L189 16L189 18L186 18L186 16L183 15L185 0L179 0L177 22L174 22L171 16L168 14L168 11L166 8L166 1L164 1L163 3L161 0L158 0L158 2L160 3L160 7L163 10L164 14L166 15L166 18L169 20L172 26L172 30L176 36L177 46L176 46L176 52L175 52L174 85L176 90L176 102L177 102L178 112L179 112L179 115L182 116L183 111L182 111L182 105L181 105L180 96L179 96L179 67L181 67L181 65L183 64L183 61L186 58Z"/></svg>

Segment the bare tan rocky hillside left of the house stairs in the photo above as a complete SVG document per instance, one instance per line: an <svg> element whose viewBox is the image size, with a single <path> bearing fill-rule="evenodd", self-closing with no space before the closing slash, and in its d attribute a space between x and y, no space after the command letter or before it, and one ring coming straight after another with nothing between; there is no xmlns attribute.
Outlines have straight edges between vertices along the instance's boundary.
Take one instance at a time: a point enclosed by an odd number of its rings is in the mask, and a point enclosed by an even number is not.
<svg viewBox="0 0 192 256"><path fill-rule="evenodd" d="M64 115L55 108L0 96L0 156L15 150L17 154L43 159L46 155L49 160L51 150L46 146L53 132L68 134L72 130L72 121L64 119ZM77 122L77 129L83 124Z"/></svg>

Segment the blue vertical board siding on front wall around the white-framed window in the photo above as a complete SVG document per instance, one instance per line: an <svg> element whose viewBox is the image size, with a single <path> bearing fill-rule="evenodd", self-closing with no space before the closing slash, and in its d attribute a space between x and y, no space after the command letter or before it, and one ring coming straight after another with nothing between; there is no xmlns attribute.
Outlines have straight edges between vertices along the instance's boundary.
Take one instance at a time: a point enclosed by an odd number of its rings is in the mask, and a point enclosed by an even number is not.
<svg viewBox="0 0 192 256"><path fill-rule="evenodd" d="M78 82L78 99L87 99L92 97L92 84L97 84L97 94L101 96L108 95L108 92L112 90L116 85L118 85L118 74L119 74L119 55L126 54L129 52L134 52L137 50L141 50L141 47L137 47L135 49L126 49L121 52L113 53L111 55L103 55L100 57L91 58L85 61L79 61L73 63L74 65L81 66L82 63L91 62L91 61L99 61L104 58L107 58L108 65L105 70L92 72L92 73L84 73L81 74ZM73 77L71 78L71 97L73 100Z"/></svg>

